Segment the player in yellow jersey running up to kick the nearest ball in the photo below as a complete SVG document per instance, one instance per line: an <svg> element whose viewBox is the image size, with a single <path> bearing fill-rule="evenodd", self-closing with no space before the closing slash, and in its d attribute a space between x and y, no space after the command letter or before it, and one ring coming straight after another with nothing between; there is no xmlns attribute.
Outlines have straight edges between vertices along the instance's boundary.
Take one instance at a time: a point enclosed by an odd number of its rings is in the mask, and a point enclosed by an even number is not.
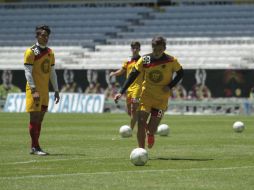
<svg viewBox="0 0 254 190"><path fill-rule="evenodd" d="M166 40L154 37L152 53L142 56L135 64L115 101L140 74L144 74L140 105L138 108L137 139L140 148L145 148L147 134L148 148L154 145L154 134L168 107L171 89L183 78L183 68L177 59L165 53ZM173 78L173 74L176 73ZM150 117L149 117L150 116Z"/></svg>

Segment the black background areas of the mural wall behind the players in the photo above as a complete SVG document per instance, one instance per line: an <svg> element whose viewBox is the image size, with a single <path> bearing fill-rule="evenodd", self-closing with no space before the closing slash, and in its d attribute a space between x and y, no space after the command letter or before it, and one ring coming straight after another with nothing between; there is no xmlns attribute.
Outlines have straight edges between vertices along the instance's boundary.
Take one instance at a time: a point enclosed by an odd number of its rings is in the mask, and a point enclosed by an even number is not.
<svg viewBox="0 0 254 190"><path fill-rule="evenodd" d="M72 92L85 92L88 90L89 84L92 82L97 84L97 90L100 93L112 85L116 85L115 89L119 89L125 80L124 76L109 79L108 73L110 70L72 70L71 83L75 83L73 88L65 88ZM3 70L0 70L0 84L3 83ZM182 81L182 86L185 88L188 95L194 91L197 83L201 82L205 85L212 94L213 98L218 97L248 97L250 89L254 87L254 71L253 70L185 70L185 76ZM63 90L68 83L68 72L57 70L59 89ZM65 75L65 77L64 77ZM70 81L69 81L70 82ZM71 86L71 83L69 86ZM12 84L25 91L26 79L24 71L12 70ZM93 88L90 86L90 88ZM91 89L90 89L91 90Z"/></svg>

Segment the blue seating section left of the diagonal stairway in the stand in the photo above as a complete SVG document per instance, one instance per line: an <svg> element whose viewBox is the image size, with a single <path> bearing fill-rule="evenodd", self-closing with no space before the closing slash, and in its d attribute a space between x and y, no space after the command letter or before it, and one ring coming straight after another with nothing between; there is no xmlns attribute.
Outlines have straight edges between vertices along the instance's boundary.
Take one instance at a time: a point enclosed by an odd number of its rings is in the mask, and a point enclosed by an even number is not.
<svg viewBox="0 0 254 190"><path fill-rule="evenodd" d="M42 11L44 16L36 14ZM30 45L34 40L34 26L47 23L51 26L52 45L93 46L94 42L116 33L148 9L136 7L77 7L3 9L0 42L10 45ZM35 15L31 18L31 15Z"/></svg>

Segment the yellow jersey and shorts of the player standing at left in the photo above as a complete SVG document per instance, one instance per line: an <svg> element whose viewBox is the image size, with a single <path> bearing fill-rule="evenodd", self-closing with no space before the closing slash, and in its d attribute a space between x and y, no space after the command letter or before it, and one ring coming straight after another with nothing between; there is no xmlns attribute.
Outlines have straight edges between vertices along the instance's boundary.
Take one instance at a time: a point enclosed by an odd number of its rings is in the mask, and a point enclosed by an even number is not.
<svg viewBox="0 0 254 190"><path fill-rule="evenodd" d="M51 66L55 64L54 52L48 47L34 45L25 51L24 64L33 67L32 77L40 94L40 101L35 103L31 88L26 84L26 111L44 111L49 101L49 79Z"/></svg>

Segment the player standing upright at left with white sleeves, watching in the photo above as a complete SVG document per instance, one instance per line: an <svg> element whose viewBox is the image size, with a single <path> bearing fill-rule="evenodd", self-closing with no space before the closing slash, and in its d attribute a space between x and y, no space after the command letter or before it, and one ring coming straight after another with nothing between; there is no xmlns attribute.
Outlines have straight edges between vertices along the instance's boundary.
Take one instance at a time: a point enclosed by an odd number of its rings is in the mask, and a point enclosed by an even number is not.
<svg viewBox="0 0 254 190"><path fill-rule="evenodd" d="M39 145L41 125L48 108L49 80L54 88L55 103L60 100L57 75L54 68L54 52L47 47L50 28L46 25L35 29L37 42L25 51L24 69L26 84L26 111L30 114L29 132L31 136L30 154L44 156Z"/></svg>

